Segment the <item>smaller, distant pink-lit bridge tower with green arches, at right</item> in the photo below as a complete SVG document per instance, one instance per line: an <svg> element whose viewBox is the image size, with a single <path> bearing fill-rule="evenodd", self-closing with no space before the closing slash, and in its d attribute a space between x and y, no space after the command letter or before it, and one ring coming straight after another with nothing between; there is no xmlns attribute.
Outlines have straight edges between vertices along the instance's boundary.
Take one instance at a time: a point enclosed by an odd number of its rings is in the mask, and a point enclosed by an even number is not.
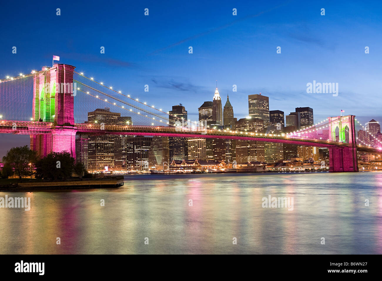
<svg viewBox="0 0 382 281"><path fill-rule="evenodd" d="M358 171L357 143L354 115L329 117L329 140L346 142L348 147L329 148L329 171Z"/></svg>

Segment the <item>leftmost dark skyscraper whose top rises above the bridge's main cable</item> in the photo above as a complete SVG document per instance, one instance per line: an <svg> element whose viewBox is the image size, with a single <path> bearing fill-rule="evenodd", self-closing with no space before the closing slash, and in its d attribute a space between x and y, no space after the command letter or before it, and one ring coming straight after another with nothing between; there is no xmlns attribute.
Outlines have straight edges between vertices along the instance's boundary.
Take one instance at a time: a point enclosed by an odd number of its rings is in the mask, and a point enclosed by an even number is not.
<svg viewBox="0 0 382 281"><path fill-rule="evenodd" d="M175 122L179 122L177 124L183 123L182 125L184 126L187 125L187 110L181 103L179 105L173 105L172 110L169 111L168 114L168 119L170 120L169 126L174 126ZM169 137L168 144L170 149L170 161L187 159L187 138Z"/></svg>

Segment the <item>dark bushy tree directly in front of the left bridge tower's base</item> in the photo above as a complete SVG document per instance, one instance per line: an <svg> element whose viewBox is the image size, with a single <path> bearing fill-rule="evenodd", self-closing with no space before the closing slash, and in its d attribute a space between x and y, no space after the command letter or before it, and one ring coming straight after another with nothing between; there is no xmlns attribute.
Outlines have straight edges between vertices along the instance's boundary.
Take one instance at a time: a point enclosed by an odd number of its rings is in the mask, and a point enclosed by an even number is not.
<svg viewBox="0 0 382 281"><path fill-rule="evenodd" d="M66 179L71 176L74 168L74 158L69 152L52 152L47 157L41 158L36 162L36 178Z"/></svg>

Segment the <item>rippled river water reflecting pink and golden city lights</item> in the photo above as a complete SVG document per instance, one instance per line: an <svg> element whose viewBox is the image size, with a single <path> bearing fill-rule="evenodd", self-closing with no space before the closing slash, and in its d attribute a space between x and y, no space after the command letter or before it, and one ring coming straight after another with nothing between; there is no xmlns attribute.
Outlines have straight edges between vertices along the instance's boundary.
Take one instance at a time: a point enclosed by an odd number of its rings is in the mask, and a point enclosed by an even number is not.
<svg viewBox="0 0 382 281"><path fill-rule="evenodd" d="M0 208L0 254L382 253L382 172L134 175L118 189L6 194L31 210ZM269 195L293 197L293 211L262 208Z"/></svg>

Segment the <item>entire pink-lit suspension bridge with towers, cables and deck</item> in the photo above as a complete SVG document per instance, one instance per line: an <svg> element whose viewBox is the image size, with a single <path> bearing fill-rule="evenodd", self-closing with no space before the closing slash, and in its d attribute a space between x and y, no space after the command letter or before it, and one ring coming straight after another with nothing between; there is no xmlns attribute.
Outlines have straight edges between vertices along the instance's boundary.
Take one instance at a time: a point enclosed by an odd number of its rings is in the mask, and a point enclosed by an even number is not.
<svg viewBox="0 0 382 281"><path fill-rule="evenodd" d="M96 82L65 64L8 76L0 80L0 95L0 133L28 134L31 149L40 157L68 151L75 158L78 133L222 138L326 147L329 170L334 172L358 171L357 151L380 154L382 150L382 143L369 132L367 139L374 141L357 138L356 126L361 124L354 115L331 116L309 128L277 134L210 128L189 120L185 125L184 120L162 108ZM134 124L82 123L87 108L105 105L134 116Z"/></svg>

